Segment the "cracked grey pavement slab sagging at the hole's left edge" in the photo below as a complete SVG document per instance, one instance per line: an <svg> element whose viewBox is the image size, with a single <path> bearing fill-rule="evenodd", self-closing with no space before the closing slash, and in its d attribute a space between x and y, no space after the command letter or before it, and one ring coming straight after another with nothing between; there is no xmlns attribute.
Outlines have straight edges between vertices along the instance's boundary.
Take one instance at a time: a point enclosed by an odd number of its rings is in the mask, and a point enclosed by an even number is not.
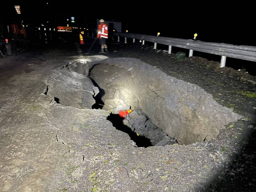
<svg viewBox="0 0 256 192"><path fill-rule="evenodd" d="M63 105L76 108L91 109L95 103L93 96L99 92L90 78L68 68L54 70L45 84L46 95L54 96Z"/></svg>

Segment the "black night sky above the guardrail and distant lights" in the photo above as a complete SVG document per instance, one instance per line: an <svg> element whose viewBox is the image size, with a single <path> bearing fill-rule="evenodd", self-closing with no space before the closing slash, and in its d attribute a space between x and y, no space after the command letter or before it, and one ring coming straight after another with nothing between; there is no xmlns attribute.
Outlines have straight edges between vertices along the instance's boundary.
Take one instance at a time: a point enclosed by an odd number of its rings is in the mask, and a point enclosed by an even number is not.
<svg viewBox="0 0 256 192"><path fill-rule="evenodd" d="M46 5L48 2L48 8ZM56 3L57 2L57 3ZM86 1L89 2L89 1ZM69 1L38 1L10 3L21 6L24 20L30 23L45 19L60 22L62 18L75 16L77 23L95 22L99 19L122 21L123 30L130 33L191 39L197 33L198 40L256 46L255 14L252 3L199 2L180 3L155 1L152 3L113 2L75 3ZM7 9L8 10L8 9ZM8 11L5 15L8 15ZM9 19L12 19L9 17Z"/></svg>

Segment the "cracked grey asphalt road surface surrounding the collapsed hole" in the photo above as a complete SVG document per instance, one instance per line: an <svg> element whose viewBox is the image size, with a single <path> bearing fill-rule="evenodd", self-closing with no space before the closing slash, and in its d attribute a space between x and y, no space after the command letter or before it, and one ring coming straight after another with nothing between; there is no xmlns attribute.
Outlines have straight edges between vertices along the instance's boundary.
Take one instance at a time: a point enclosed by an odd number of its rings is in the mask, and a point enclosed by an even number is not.
<svg viewBox="0 0 256 192"><path fill-rule="evenodd" d="M255 98L240 93L255 85L126 46L113 45L104 56L140 58L199 85L244 118L207 142L136 148L106 111L44 94L52 70L96 58L58 51L9 56L0 60L0 191L255 191Z"/></svg>

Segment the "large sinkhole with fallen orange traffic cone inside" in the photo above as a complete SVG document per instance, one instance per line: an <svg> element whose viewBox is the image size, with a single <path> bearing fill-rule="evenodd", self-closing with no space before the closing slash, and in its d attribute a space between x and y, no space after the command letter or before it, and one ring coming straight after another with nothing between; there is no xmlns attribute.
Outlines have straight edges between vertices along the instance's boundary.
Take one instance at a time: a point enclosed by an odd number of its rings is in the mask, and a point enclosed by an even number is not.
<svg viewBox="0 0 256 192"><path fill-rule="evenodd" d="M214 138L241 116L219 105L198 85L167 76L133 58L111 58L91 66L88 77L100 90L95 109L138 147L191 144ZM120 110L132 108L126 118Z"/></svg>

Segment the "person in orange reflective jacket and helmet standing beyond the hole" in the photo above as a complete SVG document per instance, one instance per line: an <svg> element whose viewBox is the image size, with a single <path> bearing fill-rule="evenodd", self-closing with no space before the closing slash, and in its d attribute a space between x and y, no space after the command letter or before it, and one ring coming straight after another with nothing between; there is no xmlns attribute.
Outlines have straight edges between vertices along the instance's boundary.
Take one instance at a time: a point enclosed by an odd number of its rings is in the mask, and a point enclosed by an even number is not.
<svg viewBox="0 0 256 192"><path fill-rule="evenodd" d="M108 52L108 47L106 44L106 39L108 38L108 25L104 23L105 21L103 19L100 20L100 25L98 26L98 35L97 37L100 40L101 45L101 52L100 53L106 53ZM105 48L105 52L104 52Z"/></svg>

